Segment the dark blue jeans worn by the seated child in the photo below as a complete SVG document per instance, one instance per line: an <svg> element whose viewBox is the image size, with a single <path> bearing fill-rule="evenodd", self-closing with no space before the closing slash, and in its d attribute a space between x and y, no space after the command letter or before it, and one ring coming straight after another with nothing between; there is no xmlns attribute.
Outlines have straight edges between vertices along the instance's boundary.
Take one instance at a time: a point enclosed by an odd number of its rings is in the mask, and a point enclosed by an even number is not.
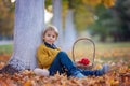
<svg viewBox="0 0 130 86"><path fill-rule="evenodd" d="M67 71L65 71L67 70ZM56 72L60 74L67 73L67 75L73 75L76 73L82 73L83 75L102 75L99 70L90 71L77 68L74 62L69 59L65 52L60 52L49 68L50 75L54 75Z"/></svg>

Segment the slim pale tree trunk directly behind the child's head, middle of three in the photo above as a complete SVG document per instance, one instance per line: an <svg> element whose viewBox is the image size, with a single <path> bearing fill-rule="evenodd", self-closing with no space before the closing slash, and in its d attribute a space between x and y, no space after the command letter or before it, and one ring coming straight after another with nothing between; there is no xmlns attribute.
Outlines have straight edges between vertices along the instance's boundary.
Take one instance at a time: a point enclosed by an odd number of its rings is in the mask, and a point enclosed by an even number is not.
<svg viewBox="0 0 130 86"><path fill-rule="evenodd" d="M53 19L52 24L58 29L58 39L56 45L63 47L63 28L62 28L62 0L52 0Z"/></svg>

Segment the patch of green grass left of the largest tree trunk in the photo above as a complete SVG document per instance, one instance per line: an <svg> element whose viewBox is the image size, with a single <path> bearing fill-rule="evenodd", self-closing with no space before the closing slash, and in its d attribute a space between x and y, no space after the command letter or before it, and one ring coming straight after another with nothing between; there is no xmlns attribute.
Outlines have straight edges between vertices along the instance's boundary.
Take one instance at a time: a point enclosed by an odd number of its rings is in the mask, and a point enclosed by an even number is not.
<svg viewBox="0 0 130 86"><path fill-rule="evenodd" d="M13 45L12 44L0 45L0 55L12 54L12 52L13 52Z"/></svg>

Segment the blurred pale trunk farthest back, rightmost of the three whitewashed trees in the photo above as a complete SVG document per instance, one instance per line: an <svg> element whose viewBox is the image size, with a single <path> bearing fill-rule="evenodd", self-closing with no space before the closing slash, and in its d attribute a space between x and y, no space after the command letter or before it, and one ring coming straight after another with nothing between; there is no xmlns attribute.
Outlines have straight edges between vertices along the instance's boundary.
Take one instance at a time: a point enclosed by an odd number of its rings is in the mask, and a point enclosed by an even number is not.
<svg viewBox="0 0 130 86"><path fill-rule="evenodd" d="M76 40L76 29L74 25L74 12L72 9L68 9L66 22L65 22L65 44L64 49L70 51L74 42Z"/></svg>

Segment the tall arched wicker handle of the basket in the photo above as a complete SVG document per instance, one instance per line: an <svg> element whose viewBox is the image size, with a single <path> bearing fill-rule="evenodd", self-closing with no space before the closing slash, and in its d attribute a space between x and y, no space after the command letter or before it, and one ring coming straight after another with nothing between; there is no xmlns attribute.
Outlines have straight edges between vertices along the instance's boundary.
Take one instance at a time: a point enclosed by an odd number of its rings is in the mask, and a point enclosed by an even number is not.
<svg viewBox="0 0 130 86"><path fill-rule="evenodd" d="M75 45L76 45L76 43L77 43L78 41L80 41L80 40L88 40L88 41L90 41L90 42L92 43L92 45L93 45L93 59L92 59L92 67L93 67L93 64L94 64L94 58L95 58L95 43L94 43L91 39L89 39L89 38L80 38L80 39L78 39L78 40L76 40L76 41L74 42L74 45L73 45L73 60L74 60L74 62L76 62L74 51L75 51Z"/></svg>

